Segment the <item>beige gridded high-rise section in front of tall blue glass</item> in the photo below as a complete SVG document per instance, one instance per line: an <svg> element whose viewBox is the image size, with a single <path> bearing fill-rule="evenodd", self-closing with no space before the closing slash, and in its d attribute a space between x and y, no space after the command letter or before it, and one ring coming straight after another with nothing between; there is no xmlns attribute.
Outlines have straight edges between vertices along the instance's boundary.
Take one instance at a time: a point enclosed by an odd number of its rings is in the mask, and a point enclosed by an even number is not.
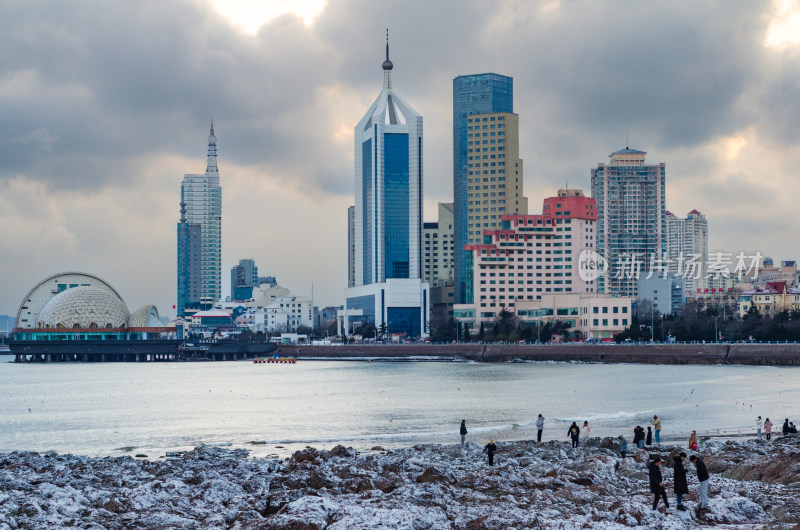
<svg viewBox="0 0 800 530"><path fill-rule="evenodd" d="M527 215L519 158L519 115L474 114L467 119L467 242L483 243L504 215Z"/></svg>

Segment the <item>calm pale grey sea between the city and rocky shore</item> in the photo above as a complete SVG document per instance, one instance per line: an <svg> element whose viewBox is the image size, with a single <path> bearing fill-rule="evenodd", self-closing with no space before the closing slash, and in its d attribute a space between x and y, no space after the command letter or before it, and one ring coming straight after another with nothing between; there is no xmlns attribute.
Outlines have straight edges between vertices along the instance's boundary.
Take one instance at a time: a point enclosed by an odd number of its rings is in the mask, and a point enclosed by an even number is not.
<svg viewBox="0 0 800 530"><path fill-rule="evenodd" d="M800 368L305 361L174 364L0 363L0 452L92 456L197 444L285 455L311 445L632 437L653 414L662 437L753 432L759 414L800 419ZM254 443L256 442L256 443ZM281 447L276 447L281 446Z"/></svg>

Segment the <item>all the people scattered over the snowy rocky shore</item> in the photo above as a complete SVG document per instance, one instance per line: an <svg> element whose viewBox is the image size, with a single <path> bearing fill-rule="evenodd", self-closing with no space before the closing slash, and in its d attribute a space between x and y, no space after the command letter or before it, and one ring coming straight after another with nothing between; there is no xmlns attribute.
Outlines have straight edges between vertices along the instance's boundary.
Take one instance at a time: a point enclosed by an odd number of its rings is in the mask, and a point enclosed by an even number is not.
<svg viewBox="0 0 800 530"><path fill-rule="evenodd" d="M539 414L538 418L536 419L536 441L537 443L541 443L542 441L542 432L544 430L544 416ZM645 434L645 430L642 426L636 425L633 429L633 445L636 449L644 449L645 446L653 445L653 441L655 441L656 445L661 444L661 419L659 419L658 415L654 415L653 419L650 421L652 425L651 427L647 427L647 432ZM769 418L766 420L761 419L761 416L758 416L755 421L756 427L756 438L758 440L762 440L763 437L766 437L767 441L771 440L772 437L772 427L773 423L770 421ZM589 427L589 422L584 421L583 426L579 427L577 421L573 421L570 425L569 429L567 430L567 438L572 442L572 448L577 449L580 447L580 438L583 436L584 438L588 437L591 429ZM789 421L789 418L786 418L783 426L781 428L781 434L783 436L797 434L797 428L794 425L794 422ZM459 433L461 436L461 445L463 446L466 443L466 435L468 434L467 427L466 427L466 420L461 420L461 426L459 429ZM763 436L762 436L763 433ZM653 439L655 435L655 440ZM628 441L625 439L623 435L618 436L619 440L619 452L620 457L624 460L627 457L628 453ZM689 437L688 448L692 451L698 450L697 445L697 431L693 430L691 436ZM495 444L494 440L490 440L488 444L484 446L483 452L488 456L488 464L489 466L494 466L494 455L498 451L497 444ZM685 452L681 452L678 455L673 456L673 491L675 493L676 498L676 509L680 511L685 511L687 508L683 504L683 496L689 493L689 486L688 481L686 479L686 468L684 467L684 461L689 458L689 461L694 464L695 471L697 473L697 481L698 481L698 489L700 493L700 503L698 505L698 510L708 510L708 485L711 475L708 472L708 468L705 465L705 462L702 458L697 455L687 456ZM661 474L661 457L658 455L651 455L648 465L648 477L649 477L649 488L650 492L653 493L653 510L658 509L659 501L663 499L664 508L665 510L669 509L669 500L667 498L666 488L664 486L664 479Z"/></svg>

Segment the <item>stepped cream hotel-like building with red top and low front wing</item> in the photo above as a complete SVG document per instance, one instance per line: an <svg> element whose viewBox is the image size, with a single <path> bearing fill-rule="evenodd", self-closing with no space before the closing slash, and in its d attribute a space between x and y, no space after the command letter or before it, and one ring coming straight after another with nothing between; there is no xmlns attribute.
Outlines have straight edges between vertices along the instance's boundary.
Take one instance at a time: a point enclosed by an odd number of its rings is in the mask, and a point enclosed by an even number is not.
<svg viewBox="0 0 800 530"><path fill-rule="evenodd" d="M455 318L477 330L507 311L526 325L562 321L578 338L624 330L631 298L599 294L595 280L580 274L580 260L595 249L596 223L595 200L576 189L545 199L541 215L503 216L500 229L467 245L474 301L454 305Z"/></svg>

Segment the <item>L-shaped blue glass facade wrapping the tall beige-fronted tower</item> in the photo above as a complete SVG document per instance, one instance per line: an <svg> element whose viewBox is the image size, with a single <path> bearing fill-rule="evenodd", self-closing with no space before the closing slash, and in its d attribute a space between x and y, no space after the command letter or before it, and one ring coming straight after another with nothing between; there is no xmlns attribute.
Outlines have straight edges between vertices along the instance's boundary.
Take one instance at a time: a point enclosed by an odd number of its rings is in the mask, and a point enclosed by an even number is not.
<svg viewBox="0 0 800 530"><path fill-rule="evenodd" d="M467 117L514 112L514 79L499 74L462 75L453 79L453 198L455 201L455 302L467 300Z"/></svg>

